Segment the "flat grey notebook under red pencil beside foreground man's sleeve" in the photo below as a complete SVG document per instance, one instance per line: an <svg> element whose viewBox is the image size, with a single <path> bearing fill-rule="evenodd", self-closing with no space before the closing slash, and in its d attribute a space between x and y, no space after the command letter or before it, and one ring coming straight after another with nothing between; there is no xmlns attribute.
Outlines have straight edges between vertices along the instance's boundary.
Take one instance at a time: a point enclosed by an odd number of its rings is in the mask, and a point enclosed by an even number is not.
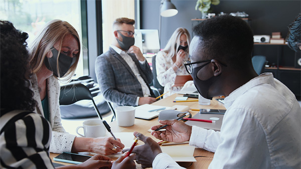
<svg viewBox="0 0 301 169"><path fill-rule="evenodd" d="M195 125L195 126L206 128L206 129L213 129L215 131L220 131L222 122L223 122L223 118L224 118L224 114L201 114L201 113L198 113L198 114L194 115L192 118L211 120L210 119L211 117L217 117L217 118L219 118L219 120L215 120L215 123L188 120L188 121L186 121L186 124L191 125L191 126Z"/></svg>

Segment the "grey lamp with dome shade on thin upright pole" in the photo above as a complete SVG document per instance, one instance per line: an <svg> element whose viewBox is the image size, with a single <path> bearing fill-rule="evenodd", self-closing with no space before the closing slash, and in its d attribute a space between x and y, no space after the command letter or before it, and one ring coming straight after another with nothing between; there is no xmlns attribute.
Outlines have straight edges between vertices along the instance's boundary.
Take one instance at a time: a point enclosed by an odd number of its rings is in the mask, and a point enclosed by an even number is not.
<svg viewBox="0 0 301 169"><path fill-rule="evenodd" d="M160 5L159 18L159 38L161 39L161 17L173 17L178 14L178 10L171 0L162 0Z"/></svg>

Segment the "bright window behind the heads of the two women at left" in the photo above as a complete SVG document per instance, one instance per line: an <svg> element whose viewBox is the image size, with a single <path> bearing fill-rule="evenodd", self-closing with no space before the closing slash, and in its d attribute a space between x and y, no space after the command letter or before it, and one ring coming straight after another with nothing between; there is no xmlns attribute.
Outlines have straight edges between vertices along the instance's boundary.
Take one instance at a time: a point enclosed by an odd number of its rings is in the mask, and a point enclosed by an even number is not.
<svg viewBox="0 0 301 169"><path fill-rule="evenodd" d="M82 37L81 2L74 0L3 0L0 3L0 20L11 21L14 26L29 34L30 45L44 25L54 19L70 23ZM81 57L76 69L76 77L84 75L82 43Z"/></svg>

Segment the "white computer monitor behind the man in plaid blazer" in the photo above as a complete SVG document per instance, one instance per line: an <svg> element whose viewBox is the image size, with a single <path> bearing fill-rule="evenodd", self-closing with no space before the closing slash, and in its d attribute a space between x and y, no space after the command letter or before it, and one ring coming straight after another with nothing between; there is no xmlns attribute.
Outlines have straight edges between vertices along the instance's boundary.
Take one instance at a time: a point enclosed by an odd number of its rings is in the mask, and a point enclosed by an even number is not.
<svg viewBox="0 0 301 169"><path fill-rule="evenodd" d="M160 40L158 30L135 29L135 46L140 48L142 53L158 53L160 51Z"/></svg>

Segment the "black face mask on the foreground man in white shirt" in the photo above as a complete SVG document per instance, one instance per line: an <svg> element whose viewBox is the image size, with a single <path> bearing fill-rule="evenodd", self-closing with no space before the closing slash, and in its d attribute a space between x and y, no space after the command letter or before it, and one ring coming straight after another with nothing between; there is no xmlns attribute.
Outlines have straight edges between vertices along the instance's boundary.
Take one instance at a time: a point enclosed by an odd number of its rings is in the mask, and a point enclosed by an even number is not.
<svg viewBox="0 0 301 169"><path fill-rule="evenodd" d="M198 72L200 71L200 69L202 69L204 66L208 65L210 62L199 66L197 68L193 68L192 71L192 78L193 78L193 83L196 86L198 92L206 99L210 99L212 100L212 97L208 97L208 91L210 86L216 81L217 76L212 76L211 78L207 79L207 80L200 80L197 76Z"/></svg>

